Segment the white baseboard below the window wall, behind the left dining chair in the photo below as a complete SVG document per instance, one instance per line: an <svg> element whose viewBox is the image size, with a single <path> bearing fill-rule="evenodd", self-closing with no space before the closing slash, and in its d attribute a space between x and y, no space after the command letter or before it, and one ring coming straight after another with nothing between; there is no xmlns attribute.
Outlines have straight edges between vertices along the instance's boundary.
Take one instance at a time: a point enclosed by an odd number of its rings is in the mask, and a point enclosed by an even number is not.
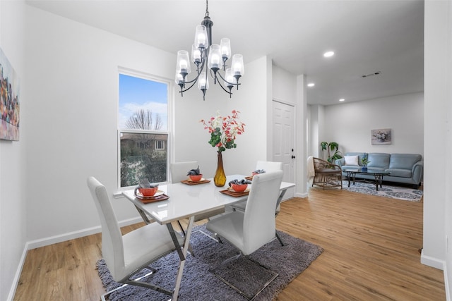
<svg viewBox="0 0 452 301"><path fill-rule="evenodd" d="M141 221L143 221L143 219L141 219L141 217L134 217L133 219L126 219L124 221L120 221L119 226L120 227L129 226L129 225L132 225L133 223L140 223ZM84 236L100 233L100 231L101 231L100 226L96 226L96 227L92 227L92 228L85 228L85 229L82 229L79 231L64 233L61 235L54 235L49 238L42 238L39 240L30 240L29 242L27 242L27 244L28 244L27 250L32 250L37 247L44 247L46 245L53 245L54 243L64 242L66 240L72 240L75 238L83 238Z"/></svg>

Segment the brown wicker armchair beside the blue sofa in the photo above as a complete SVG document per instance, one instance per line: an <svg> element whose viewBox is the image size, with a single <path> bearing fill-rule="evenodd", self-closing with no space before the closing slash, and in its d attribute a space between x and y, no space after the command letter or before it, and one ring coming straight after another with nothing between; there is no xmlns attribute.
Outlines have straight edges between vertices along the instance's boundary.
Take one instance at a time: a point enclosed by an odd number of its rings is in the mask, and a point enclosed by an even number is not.
<svg viewBox="0 0 452 301"><path fill-rule="evenodd" d="M314 180L312 180L312 186L340 187L342 189L342 169L340 166L319 158L313 158L313 161L316 174Z"/></svg>

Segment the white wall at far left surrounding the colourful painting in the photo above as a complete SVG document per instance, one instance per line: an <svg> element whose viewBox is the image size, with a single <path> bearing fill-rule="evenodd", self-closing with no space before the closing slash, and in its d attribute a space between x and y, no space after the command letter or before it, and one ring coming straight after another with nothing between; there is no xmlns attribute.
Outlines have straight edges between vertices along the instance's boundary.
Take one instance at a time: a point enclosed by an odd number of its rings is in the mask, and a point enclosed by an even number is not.
<svg viewBox="0 0 452 301"><path fill-rule="evenodd" d="M11 299L23 260L25 245L25 117L28 94L25 82L24 23L22 1L0 1L0 47L19 78L20 137L18 142L0 140L0 300Z"/></svg>

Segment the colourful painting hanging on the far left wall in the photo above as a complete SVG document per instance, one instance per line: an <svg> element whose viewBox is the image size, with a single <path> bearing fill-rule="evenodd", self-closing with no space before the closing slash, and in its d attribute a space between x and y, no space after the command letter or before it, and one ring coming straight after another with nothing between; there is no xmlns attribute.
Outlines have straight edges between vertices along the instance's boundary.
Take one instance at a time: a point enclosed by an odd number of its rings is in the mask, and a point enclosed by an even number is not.
<svg viewBox="0 0 452 301"><path fill-rule="evenodd" d="M16 71L0 49L0 139L19 140L19 84Z"/></svg>

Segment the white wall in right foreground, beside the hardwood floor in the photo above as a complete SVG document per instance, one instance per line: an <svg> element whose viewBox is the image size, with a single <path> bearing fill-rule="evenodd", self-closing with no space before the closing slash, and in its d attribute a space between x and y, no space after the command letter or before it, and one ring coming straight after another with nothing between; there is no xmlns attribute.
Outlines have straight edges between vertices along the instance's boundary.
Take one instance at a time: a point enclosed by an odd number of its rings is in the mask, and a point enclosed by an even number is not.
<svg viewBox="0 0 452 301"><path fill-rule="evenodd" d="M446 269L451 298L451 24L450 1L425 1L424 13L424 248L421 262Z"/></svg>

